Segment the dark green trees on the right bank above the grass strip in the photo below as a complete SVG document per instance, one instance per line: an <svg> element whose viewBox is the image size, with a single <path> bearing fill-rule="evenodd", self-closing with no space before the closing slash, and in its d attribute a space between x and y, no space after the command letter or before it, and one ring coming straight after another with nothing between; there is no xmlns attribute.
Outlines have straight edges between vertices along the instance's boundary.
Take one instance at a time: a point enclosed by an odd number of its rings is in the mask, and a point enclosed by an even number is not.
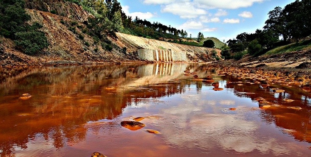
<svg viewBox="0 0 311 157"><path fill-rule="evenodd" d="M275 7L269 11L263 30L241 33L235 39L228 40L229 47L222 48L222 55L226 59L240 59L245 52L258 56L307 49L310 41L304 40L311 35L310 14L311 0L296 0L284 8ZM283 39L279 40L280 37Z"/></svg>

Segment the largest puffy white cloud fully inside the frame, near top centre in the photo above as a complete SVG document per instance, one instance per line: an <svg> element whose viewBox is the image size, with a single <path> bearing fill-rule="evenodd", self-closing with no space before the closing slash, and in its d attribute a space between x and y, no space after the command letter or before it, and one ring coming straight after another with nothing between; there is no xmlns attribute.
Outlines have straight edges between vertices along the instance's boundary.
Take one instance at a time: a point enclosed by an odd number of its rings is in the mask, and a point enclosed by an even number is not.
<svg viewBox="0 0 311 157"><path fill-rule="evenodd" d="M199 15L207 14L207 11L203 9L199 9L193 6L190 2L182 2L182 3L172 3L166 5L161 10L162 12L169 12L174 15L179 15L180 18L196 18Z"/></svg>

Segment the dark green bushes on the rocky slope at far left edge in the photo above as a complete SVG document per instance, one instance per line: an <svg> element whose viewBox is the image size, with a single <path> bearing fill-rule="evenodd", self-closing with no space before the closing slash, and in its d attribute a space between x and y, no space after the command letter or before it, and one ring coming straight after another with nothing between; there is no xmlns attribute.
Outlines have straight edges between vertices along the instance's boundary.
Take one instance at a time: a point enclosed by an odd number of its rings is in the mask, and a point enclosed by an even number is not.
<svg viewBox="0 0 311 157"><path fill-rule="evenodd" d="M24 0L0 1L0 35L15 41L16 48L33 55L48 46L42 25L26 22L30 16L26 14Z"/></svg>

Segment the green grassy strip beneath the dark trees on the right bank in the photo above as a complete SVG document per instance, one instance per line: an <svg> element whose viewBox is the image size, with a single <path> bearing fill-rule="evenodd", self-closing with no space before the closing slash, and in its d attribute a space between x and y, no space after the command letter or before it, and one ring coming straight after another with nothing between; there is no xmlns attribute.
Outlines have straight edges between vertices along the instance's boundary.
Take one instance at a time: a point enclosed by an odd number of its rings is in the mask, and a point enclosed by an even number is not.
<svg viewBox="0 0 311 157"><path fill-rule="evenodd" d="M288 45L276 47L272 50L269 50L265 55L273 55L279 53L286 53L292 51L306 50L311 48L311 40L305 40L301 42L291 43Z"/></svg>

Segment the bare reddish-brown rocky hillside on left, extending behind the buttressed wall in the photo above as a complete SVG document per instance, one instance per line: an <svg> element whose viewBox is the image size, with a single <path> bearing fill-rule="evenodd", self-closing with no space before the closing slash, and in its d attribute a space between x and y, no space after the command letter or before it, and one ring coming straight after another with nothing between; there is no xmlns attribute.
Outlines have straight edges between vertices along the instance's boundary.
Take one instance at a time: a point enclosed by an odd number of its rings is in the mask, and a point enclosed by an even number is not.
<svg viewBox="0 0 311 157"><path fill-rule="evenodd" d="M157 41L122 33L107 37L103 45L85 32L86 20L92 17L75 3L63 0L26 0L29 23L43 25L49 46L36 55L26 55L11 39L0 37L0 65L54 65L141 61L140 48L172 49L187 52L189 62L220 59L220 50ZM107 45L109 45L107 47Z"/></svg>

